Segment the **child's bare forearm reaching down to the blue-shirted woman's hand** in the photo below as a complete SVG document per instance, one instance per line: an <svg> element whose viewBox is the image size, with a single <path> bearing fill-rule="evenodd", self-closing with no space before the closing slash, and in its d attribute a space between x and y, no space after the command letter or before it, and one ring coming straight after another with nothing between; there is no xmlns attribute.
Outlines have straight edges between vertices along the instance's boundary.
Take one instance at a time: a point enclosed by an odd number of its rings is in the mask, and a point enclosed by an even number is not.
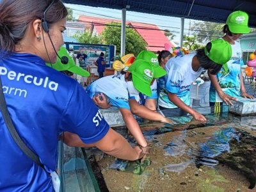
<svg viewBox="0 0 256 192"><path fill-rule="evenodd" d="M143 147L147 146L147 141L143 137L140 126L138 125L136 119L133 117L131 111L127 108L119 108L119 110L123 116L127 128L129 129L133 137L136 139L138 144L140 144Z"/></svg>

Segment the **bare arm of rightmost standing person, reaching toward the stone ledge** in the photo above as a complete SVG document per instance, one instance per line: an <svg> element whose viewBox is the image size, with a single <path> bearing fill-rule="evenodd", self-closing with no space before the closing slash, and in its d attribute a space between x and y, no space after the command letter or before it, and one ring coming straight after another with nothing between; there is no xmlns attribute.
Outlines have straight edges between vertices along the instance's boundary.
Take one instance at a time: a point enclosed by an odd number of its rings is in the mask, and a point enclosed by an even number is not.
<svg viewBox="0 0 256 192"><path fill-rule="evenodd" d="M212 75L211 73L208 73L208 76L211 80L212 85L214 86L214 88L216 89L216 91L218 92L218 95L220 96L221 100L223 100L225 103L233 105L232 101L230 100L237 100L237 98L234 98L232 96L229 96L228 94L225 94L225 92L222 91L220 84L218 83L218 80L216 78L215 75Z"/></svg>

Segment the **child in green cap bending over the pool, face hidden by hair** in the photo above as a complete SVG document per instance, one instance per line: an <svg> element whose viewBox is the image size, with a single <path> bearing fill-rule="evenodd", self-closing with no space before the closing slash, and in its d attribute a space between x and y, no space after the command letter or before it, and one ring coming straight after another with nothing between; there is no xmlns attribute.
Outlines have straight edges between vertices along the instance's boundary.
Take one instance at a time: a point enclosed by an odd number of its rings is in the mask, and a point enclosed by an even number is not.
<svg viewBox="0 0 256 192"><path fill-rule="evenodd" d="M164 66L167 72L164 77L166 84L159 87L159 109L180 108L182 113L170 115L191 114L196 120L206 121L204 115L189 107L189 89L202 71L208 70L214 75L230 57L230 44L220 39L207 43L205 48L196 50L196 54L179 55L169 59Z"/></svg>

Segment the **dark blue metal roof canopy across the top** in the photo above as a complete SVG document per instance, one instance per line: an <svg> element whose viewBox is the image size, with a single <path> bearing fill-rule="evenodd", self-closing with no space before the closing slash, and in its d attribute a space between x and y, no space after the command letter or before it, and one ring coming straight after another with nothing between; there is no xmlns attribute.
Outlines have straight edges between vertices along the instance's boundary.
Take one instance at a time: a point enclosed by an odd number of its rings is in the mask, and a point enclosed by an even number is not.
<svg viewBox="0 0 256 192"><path fill-rule="evenodd" d="M64 3L225 23L229 13L246 11L256 27L256 0L63 0Z"/></svg>

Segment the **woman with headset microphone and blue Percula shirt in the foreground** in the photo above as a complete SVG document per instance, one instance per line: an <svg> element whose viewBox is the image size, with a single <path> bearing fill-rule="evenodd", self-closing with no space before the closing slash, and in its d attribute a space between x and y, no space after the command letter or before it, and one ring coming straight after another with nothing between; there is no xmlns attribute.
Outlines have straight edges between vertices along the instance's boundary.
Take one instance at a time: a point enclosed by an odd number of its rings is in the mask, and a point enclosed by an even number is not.
<svg viewBox="0 0 256 192"><path fill-rule="evenodd" d="M109 128L76 80L45 64L56 63L66 16L60 0L0 3L0 91L19 137L41 164L15 143L0 113L0 191L54 191L50 174L56 171L58 137L65 131L76 134L74 146L95 146L128 160L143 156Z"/></svg>

